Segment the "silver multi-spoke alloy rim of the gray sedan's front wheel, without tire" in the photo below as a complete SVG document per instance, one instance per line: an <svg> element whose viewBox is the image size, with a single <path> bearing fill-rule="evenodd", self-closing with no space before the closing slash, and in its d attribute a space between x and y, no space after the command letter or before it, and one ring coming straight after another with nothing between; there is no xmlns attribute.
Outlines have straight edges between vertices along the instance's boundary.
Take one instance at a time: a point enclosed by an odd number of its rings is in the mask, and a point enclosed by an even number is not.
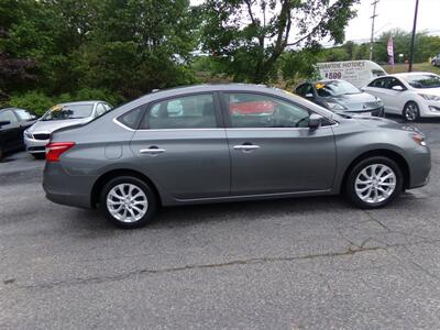
<svg viewBox="0 0 440 330"><path fill-rule="evenodd" d="M371 164L362 169L354 183L358 197L366 204L388 199L396 188L396 174L384 164Z"/></svg>

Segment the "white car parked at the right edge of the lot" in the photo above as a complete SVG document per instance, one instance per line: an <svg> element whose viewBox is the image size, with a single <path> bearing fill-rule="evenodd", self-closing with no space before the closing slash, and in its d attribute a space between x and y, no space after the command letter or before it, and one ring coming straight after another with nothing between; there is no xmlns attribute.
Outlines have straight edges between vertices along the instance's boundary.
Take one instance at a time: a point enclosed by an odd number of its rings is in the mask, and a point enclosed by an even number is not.
<svg viewBox="0 0 440 330"><path fill-rule="evenodd" d="M407 73L380 77L363 88L384 102L385 113L399 114L407 121L440 118L440 76Z"/></svg>

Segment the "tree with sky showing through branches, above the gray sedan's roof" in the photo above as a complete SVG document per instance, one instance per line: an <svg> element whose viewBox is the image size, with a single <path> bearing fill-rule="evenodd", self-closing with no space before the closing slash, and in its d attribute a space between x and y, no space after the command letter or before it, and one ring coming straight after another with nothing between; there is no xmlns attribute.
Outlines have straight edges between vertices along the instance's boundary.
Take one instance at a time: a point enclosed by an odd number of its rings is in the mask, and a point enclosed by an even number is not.
<svg viewBox="0 0 440 330"><path fill-rule="evenodd" d="M277 76L286 47L317 40L341 43L359 0L207 0L202 48L235 80L263 82Z"/></svg>

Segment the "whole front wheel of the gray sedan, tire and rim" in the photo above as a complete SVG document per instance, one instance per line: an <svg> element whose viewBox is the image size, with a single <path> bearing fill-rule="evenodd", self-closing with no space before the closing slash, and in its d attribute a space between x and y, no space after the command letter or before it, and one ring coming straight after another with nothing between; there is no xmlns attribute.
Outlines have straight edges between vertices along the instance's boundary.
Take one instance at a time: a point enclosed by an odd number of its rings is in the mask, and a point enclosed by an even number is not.
<svg viewBox="0 0 440 330"><path fill-rule="evenodd" d="M345 193L355 206L374 209L389 204L403 189L403 175L391 158L374 156L358 163L350 172Z"/></svg>

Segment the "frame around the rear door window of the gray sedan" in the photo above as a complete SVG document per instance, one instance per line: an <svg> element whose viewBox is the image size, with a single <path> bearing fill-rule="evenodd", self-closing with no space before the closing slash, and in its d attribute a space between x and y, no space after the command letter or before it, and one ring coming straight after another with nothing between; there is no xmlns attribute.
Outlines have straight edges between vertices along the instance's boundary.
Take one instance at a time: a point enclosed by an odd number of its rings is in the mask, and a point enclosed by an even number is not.
<svg viewBox="0 0 440 330"><path fill-rule="evenodd" d="M152 110L152 108L160 103L160 102L166 102L169 100L175 100L175 99L179 99L179 98L185 98L185 97L191 97L191 96L199 96L199 95L211 95L212 96L212 100L213 100L213 110L215 110L215 118L216 118L216 127L215 128L190 128L190 129L184 129L184 128L174 128L174 129L150 129L150 122L148 122L148 114L150 111ZM154 100L152 102L148 102L145 105L146 110L144 111L142 119L139 122L138 125L138 131L166 131L166 130L217 130L217 129L222 129L224 128L224 123L223 123L223 117L221 113L221 109L220 109L220 102L219 102L219 96L218 92L216 91L200 91L200 92L189 92L189 94L183 94L179 96L170 96L167 98L163 98L163 99L157 99ZM145 125L142 125L143 123L145 123Z"/></svg>

